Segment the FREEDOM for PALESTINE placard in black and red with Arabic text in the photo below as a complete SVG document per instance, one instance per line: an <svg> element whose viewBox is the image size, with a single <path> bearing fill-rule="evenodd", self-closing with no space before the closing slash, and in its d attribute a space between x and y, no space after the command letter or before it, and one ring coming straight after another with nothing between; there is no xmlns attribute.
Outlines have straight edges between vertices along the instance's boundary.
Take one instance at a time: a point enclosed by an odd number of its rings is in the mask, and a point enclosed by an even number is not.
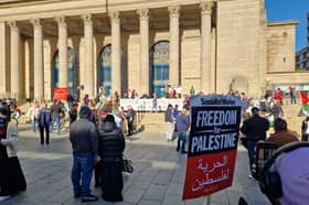
<svg viewBox="0 0 309 205"><path fill-rule="evenodd" d="M206 196L232 185L241 121L234 96L191 98L191 131L183 199Z"/></svg>

